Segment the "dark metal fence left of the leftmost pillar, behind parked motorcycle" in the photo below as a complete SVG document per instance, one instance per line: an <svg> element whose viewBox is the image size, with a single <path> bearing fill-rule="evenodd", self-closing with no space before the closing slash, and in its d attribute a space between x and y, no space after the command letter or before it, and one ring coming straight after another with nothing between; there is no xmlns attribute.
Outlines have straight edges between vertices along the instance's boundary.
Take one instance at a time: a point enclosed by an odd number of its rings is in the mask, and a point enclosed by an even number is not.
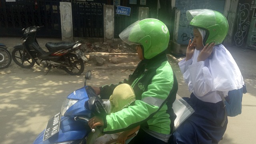
<svg viewBox="0 0 256 144"><path fill-rule="evenodd" d="M60 0L0 0L0 36L21 36L29 26L44 26L41 37L61 37Z"/></svg>

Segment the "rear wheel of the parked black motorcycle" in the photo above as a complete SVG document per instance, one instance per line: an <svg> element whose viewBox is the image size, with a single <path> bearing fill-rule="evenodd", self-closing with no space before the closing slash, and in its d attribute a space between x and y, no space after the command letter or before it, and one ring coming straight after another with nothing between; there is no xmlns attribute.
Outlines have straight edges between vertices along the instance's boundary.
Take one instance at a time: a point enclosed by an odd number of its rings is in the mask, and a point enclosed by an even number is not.
<svg viewBox="0 0 256 144"><path fill-rule="evenodd" d="M70 53L66 55L66 58L69 60L69 66L62 66L62 69L65 70L68 74L72 76L78 76L84 72L84 61L76 56L76 54Z"/></svg>

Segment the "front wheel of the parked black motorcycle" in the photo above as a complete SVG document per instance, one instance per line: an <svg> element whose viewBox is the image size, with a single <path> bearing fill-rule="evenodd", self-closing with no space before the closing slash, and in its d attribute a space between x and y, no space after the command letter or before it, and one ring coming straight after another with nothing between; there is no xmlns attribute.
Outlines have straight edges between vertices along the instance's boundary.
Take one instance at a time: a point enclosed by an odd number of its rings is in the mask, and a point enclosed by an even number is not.
<svg viewBox="0 0 256 144"><path fill-rule="evenodd" d="M32 68L35 64L35 61L23 48L15 48L12 51L12 60L22 68Z"/></svg>

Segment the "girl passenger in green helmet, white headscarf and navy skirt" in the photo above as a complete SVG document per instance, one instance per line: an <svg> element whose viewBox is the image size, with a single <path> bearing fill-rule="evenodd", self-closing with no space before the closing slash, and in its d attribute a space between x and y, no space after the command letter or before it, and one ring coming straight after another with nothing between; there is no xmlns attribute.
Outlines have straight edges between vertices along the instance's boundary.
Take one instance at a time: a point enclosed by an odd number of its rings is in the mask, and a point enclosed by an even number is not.
<svg viewBox="0 0 256 144"><path fill-rule="evenodd" d="M195 112L173 133L172 144L217 144L228 124L222 94L236 90L234 96L242 100L239 91L244 81L234 58L221 44L228 33L225 16L214 10L189 10L187 18L194 39L179 66L192 92L184 99Z"/></svg>

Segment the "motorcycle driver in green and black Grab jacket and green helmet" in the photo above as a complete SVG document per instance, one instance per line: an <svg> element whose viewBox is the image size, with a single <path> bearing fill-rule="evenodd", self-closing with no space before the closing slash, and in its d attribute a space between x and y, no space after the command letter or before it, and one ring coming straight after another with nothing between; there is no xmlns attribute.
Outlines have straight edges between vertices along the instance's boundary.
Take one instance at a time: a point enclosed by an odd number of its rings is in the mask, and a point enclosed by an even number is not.
<svg viewBox="0 0 256 144"><path fill-rule="evenodd" d="M136 44L141 59L127 83L136 95L133 106L107 115L93 117L91 128L104 126L103 133L122 132L140 125L132 140L136 144L166 144L174 126L175 114L172 104L176 99L178 83L167 57L166 49L170 34L160 20L148 18L134 22L119 34L127 44ZM118 84L93 87L102 99L108 99Z"/></svg>

